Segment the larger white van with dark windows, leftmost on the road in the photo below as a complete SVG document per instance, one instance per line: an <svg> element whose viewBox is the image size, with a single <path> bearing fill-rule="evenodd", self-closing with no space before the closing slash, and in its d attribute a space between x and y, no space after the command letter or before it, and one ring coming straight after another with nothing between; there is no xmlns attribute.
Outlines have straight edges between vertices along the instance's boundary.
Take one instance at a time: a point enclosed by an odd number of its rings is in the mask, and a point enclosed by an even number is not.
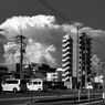
<svg viewBox="0 0 105 105"><path fill-rule="evenodd" d="M18 80L18 78L7 78L1 83L2 91L11 91L11 92L25 92L27 91L27 81Z"/></svg>

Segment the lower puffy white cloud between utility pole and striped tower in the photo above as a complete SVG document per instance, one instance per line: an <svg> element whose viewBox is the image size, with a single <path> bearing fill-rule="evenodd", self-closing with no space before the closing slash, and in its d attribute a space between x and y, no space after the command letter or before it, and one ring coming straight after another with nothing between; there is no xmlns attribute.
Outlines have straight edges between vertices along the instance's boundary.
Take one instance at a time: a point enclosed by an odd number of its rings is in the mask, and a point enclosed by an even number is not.
<svg viewBox="0 0 105 105"><path fill-rule="evenodd" d="M35 43L30 39L25 51L27 62L46 63L52 66L56 65L55 59L52 56L52 53L55 52L55 48L53 45L45 46L40 43Z"/></svg>

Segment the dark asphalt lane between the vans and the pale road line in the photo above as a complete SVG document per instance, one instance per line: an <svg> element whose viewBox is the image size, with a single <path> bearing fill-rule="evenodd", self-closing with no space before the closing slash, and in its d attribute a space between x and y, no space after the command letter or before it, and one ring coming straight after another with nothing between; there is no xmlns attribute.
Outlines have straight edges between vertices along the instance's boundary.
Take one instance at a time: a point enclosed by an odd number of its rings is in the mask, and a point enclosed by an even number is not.
<svg viewBox="0 0 105 105"><path fill-rule="evenodd" d="M50 96L50 95L64 95L64 94L74 94L73 91L49 91L49 92L25 92L25 93L12 93L12 92L2 92L0 94L0 99L2 98L17 98L17 97L33 97L33 96Z"/></svg>

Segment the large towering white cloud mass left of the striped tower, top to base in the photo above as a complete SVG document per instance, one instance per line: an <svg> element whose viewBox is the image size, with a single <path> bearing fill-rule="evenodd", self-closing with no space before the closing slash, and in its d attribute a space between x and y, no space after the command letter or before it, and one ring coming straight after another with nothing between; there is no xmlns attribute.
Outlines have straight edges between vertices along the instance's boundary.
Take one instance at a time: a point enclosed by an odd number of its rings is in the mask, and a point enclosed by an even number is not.
<svg viewBox="0 0 105 105"><path fill-rule="evenodd" d="M24 54L25 62L46 63L51 66L57 65L54 57L54 53L57 51L54 44L57 42L55 35L59 32L57 30L61 30L61 25L55 24L54 17L12 17L2 23L0 29L3 29L3 31L0 33L3 34L8 40L21 34L21 31L22 35L30 39L27 41ZM54 34L53 32L56 33ZM3 48L6 63L12 64L19 62L20 50L15 42L8 42L3 45Z"/></svg>

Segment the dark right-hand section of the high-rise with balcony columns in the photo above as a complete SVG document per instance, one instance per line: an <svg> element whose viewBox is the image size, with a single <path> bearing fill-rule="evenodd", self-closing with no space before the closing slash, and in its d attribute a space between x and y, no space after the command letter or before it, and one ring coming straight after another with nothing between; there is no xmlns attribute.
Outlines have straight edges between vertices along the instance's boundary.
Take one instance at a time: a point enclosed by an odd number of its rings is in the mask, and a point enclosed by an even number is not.
<svg viewBox="0 0 105 105"><path fill-rule="evenodd" d="M81 86L86 86L87 82L91 82L90 74L92 72L92 39L88 38L84 32L80 34L78 39L78 82Z"/></svg>

